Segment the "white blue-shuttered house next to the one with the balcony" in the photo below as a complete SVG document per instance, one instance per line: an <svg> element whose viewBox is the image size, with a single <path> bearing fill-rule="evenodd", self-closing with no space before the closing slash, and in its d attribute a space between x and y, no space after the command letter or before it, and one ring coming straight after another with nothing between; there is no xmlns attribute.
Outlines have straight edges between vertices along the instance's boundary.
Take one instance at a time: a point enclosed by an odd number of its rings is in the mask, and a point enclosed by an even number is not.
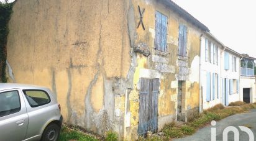
<svg viewBox="0 0 256 141"><path fill-rule="evenodd" d="M242 56L229 47L221 53L221 91L222 104L240 101L240 58Z"/></svg>

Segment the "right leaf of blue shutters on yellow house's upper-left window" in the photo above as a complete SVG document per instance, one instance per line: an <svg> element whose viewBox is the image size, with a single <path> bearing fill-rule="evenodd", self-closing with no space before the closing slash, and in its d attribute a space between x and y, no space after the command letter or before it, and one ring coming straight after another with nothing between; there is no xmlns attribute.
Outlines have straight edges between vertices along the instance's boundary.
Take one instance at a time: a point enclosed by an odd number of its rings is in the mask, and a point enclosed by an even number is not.
<svg viewBox="0 0 256 141"><path fill-rule="evenodd" d="M167 16L161 14L161 51L167 48Z"/></svg>

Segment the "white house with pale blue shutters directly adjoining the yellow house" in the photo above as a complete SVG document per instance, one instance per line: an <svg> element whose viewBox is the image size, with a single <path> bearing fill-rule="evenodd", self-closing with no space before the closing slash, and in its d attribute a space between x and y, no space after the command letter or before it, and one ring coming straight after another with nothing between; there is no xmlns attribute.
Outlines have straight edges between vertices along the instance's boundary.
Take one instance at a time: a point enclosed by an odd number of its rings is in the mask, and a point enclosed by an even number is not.
<svg viewBox="0 0 256 141"><path fill-rule="evenodd" d="M209 32L201 37L200 111L221 103L221 52L224 47L225 45Z"/></svg>

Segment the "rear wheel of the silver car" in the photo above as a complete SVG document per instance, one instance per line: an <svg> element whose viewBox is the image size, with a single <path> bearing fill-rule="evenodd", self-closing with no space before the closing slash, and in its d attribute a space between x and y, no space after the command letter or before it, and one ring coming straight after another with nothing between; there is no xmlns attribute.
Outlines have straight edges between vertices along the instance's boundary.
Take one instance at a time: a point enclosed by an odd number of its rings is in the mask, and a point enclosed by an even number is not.
<svg viewBox="0 0 256 141"><path fill-rule="evenodd" d="M43 131L42 141L56 141L60 135L60 127L57 124L48 125Z"/></svg>

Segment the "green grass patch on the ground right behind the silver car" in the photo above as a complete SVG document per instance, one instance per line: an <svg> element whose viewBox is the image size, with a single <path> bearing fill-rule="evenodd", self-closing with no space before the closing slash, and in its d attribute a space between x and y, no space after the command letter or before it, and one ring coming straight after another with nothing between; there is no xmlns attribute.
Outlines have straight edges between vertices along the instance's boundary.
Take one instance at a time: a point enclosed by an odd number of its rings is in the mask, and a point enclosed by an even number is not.
<svg viewBox="0 0 256 141"><path fill-rule="evenodd" d="M70 130L65 125L63 125L62 130L60 131L59 141L68 141L68 140L78 140L78 141L96 141L98 139L92 137L91 135L83 134L77 130Z"/></svg>

